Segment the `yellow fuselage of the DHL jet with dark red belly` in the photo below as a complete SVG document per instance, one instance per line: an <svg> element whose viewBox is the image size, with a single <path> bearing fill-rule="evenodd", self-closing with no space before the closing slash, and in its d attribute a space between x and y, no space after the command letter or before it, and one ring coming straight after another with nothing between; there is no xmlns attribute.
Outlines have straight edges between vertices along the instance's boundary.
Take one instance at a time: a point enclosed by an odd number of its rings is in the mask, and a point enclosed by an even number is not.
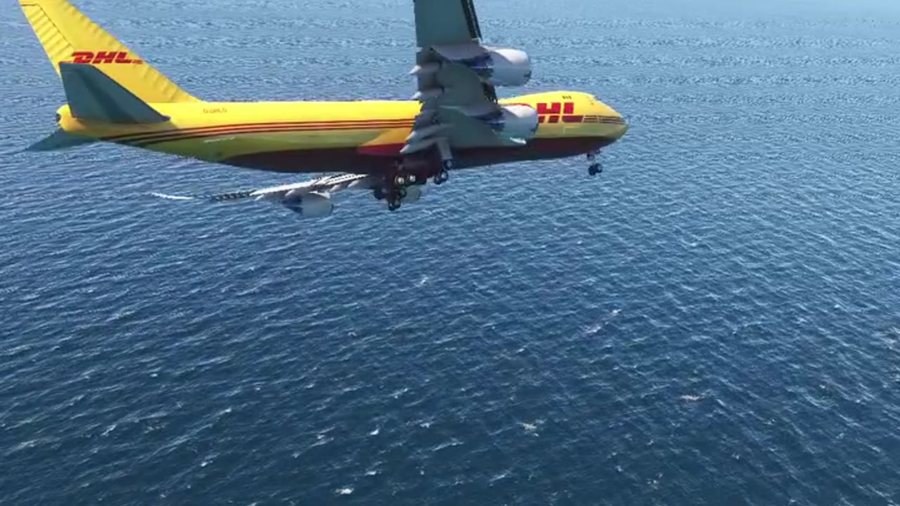
<svg viewBox="0 0 900 506"><path fill-rule="evenodd" d="M563 158L622 137L622 116L593 95L550 92L501 104L528 104L539 127L525 146L455 149L459 167ZM185 102L150 104L170 118L156 124L83 122L58 111L67 132L190 158L279 172L370 173L390 167L412 131L421 104L359 102Z"/></svg>

